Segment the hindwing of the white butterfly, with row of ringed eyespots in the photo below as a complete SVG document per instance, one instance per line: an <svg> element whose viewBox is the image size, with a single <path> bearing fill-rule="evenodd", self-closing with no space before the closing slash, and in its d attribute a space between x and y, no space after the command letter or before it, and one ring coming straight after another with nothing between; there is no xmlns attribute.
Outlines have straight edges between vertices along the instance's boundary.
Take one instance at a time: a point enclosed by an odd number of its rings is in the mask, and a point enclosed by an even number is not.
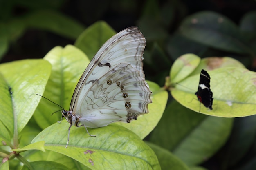
<svg viewBox="0 0 256 170"><path fill-rule="evenodd" d="M130 122L148 113L151 91L139 71L120 63L104 74L77 103L81 123L87 127L106 126L115 121Z"/></svg>

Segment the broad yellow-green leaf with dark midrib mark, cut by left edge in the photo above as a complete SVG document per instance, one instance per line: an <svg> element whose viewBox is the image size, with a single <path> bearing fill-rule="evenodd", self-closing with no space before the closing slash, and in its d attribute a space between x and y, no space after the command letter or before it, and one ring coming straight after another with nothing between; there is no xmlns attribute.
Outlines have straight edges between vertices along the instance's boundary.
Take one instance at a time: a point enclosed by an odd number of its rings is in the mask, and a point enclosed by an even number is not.
<svg viewBox="0 0 256 170"><path fill-rule="evenodd" d="M0 65L4 77L0 117L9 132L20 132L36 109L49 78L51 65L44 60L20 60ZM3 80L3 79L2 79ZM2 99L2 97L1 97ZM2 119L1 119L2 120ZM14 133L15 133L14 132Z"/></svg>

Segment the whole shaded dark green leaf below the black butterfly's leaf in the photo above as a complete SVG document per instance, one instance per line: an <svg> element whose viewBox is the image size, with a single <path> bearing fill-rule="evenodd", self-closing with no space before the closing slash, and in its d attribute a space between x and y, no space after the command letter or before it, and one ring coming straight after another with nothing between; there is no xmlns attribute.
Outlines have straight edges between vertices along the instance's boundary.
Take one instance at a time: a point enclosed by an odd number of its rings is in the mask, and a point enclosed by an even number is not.
<svg viewBox="0 0 256 170"><path fill-rule="evenodd" d="M195 166L211 157L225 144L233 119L207 116L186 109L176 101L164 111L150 141Z"/></svg>

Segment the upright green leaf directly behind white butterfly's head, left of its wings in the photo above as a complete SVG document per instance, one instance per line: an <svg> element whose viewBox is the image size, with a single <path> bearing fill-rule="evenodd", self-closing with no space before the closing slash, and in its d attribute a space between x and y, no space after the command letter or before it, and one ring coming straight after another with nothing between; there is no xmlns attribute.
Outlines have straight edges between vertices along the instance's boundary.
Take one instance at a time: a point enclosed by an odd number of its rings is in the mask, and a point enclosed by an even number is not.
<svg viewBox="0 0 256 170"><path fill-rule="evenodd" d="M52 64L52 73L43 96L68 109L76 84L90 61L82 51L72 45L65 48L57 46L44 59ZM60 112L51 116L53 112L61 109L52 102L42 99L34 113L34 118L42 129L61 119Z"/></svg>

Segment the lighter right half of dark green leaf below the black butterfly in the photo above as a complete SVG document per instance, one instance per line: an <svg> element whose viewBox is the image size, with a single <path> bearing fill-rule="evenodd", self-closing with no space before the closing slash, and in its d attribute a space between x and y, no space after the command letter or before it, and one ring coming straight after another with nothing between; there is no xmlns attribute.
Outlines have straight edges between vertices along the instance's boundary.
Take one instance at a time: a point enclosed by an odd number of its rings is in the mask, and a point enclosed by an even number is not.
<svg viewBox="0 0 256 170"><path fill-rule="evenodd" d="M206 117L186 136L187 140L181 141L173 153L187 165L197 165L205 161L225 144L231 132L232 122L233 119Z"/></svg>

